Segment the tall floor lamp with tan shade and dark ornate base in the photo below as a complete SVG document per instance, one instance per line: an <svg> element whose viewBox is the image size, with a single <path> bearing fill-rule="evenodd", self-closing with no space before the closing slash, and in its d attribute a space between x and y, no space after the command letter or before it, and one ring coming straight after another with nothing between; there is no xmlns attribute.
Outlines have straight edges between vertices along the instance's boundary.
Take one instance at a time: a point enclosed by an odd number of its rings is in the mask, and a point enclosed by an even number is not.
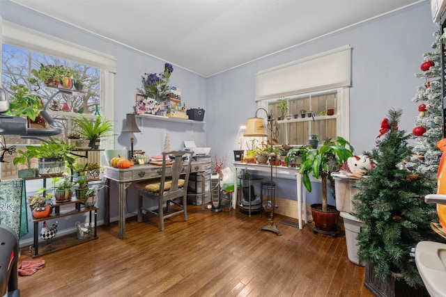
<svg viewBox="0 0 446 297"><path fill-rule="evenodd" d="M276 122L275 122L275 120L272 119L271 115L268 115L268 111L266 111L266 109L262 109L262 108L257 109L256 115L254 116L254 118L248 118L248 120L246 122L245 134L243 134L243 136L267 136L268 137L268 132L266 130L265 121L263 120L263 118L257 118L257 112L260 110L265 111L267 118L268 118L268 127L270 127L270 136L269 136L270 139L268 139L268 143L270 144L270 152L272 152L272 136L274 133L273 126L275 125ZM270 183L272 185L272 163L271 163L271 160L270 160L270 167L271 167ZM270 191L270 194L271 193L275 193L275 192ZM275 232L275 234L277 234L277 235L282 235L282 232L277 230L277 225L274 223L274 220L273 220L274 207L275 207L275 194L272 194L271 195L270 225L261 227L261 230L271 231L271 232Z"/></svg>

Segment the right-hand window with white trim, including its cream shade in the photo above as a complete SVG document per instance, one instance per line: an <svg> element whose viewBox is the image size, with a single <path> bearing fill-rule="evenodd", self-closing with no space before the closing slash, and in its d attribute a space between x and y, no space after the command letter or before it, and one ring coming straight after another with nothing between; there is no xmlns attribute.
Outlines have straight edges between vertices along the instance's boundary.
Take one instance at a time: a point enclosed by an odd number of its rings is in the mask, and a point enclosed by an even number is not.
<svg viewBox="0 0 446 297"><path fill-rule="evenodd" d="M321 141L336 136L348 140L350 86L351 47L346 45L259 71L256 101L273 118L281 115L278 99L287 103L288 119L277 120L281 145L305 145L312 134Z"/></svg>

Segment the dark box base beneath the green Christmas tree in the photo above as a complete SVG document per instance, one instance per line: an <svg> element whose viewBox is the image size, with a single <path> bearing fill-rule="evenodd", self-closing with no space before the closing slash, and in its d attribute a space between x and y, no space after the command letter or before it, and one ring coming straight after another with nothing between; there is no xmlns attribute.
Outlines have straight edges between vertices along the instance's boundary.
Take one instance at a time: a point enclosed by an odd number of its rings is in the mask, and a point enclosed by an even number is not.
<svg viewBox="0 0 446 297"><path fill-rule="evenodd" d="M376 297L429 297L426 288L413 288L403 278L388 276L385 280L375 277L374 264L366 264L364 287Z"/></svg>

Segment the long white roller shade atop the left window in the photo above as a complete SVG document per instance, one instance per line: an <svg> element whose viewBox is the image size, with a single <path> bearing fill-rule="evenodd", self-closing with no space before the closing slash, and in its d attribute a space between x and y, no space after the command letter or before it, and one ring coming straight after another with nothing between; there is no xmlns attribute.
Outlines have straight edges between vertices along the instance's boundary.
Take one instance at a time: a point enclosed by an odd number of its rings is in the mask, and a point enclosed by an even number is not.
<svg viewBox="0 0 446 297"><path fill-rule="evenodd" d="M116 73L116 59L61 38L3 21L3 42Z"/></svg>

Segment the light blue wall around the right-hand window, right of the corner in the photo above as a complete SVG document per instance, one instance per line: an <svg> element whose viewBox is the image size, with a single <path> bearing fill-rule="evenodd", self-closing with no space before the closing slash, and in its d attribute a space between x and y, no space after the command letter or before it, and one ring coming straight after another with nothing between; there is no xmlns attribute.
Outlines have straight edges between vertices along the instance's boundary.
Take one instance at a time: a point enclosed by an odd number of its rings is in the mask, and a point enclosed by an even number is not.
<svg viewBox="0 0 446 297"><path fill-rule="evenodd" d="M437 28L431 21L431 7L426 1L210 77L206 111L208 145L213 147L213 154L226 154L228 164L233 161L238 127L245 125L257 108L254 102L256 72L342 45L353 47L350 141L355 152L361 154L374 147L381 120L392 107L403 109L400 129L412 131L418 104L413 104L411 99L416 87L424 85L424 80L415 78L415 74L421 72L422 55L432 51L433 33ZM300 30L296 28L296 34ZM279 197L295 197L295 185L291 181L283 181L278 186ZM318 195L313 191L309 201L318 202Z"/></svg>

